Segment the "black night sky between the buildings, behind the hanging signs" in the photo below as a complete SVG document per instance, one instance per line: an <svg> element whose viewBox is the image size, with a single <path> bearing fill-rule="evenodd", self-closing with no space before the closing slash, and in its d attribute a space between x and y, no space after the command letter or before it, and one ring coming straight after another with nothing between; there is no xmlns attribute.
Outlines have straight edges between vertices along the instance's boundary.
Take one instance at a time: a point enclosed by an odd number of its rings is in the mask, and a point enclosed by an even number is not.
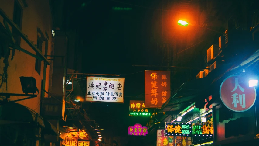
<svg viewBox="0 0 259 146"><path fill-rule="evenodd" d="M133 5L155 7L144 0L118 0ZM144 70L132 64L160 64L161 51L151 41L153 25L160 12L111 0L82 1L80 8L80 38L84 41L83 73L118 74L125 77L124 104L90 103L88 114L105 133L128 135L128 126L146 125L148 119L129 117L129 100L144 100ZM77 4L81 6L79 3ZM132 8L114 11L113 7ZM138 98L136 98L138 96ZM142 96L142 98L141 98Z"/></svg>

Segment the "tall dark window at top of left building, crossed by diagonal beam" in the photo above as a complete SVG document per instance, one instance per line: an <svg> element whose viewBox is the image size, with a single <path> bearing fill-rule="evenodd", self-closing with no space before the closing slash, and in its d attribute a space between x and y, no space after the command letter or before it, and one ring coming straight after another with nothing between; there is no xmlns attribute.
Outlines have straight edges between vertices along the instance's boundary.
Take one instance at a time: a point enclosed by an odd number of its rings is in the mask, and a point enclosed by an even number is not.
<svg viewBox="0 0 259 146"><path fill-rule="evenodd" d="M16 0L14 1L13 9L13 22L18 26L19 29L22 29L22 7ZM17 45L21 44L21 36L19 35L16 29L12 29L12 34Z"/></svg>

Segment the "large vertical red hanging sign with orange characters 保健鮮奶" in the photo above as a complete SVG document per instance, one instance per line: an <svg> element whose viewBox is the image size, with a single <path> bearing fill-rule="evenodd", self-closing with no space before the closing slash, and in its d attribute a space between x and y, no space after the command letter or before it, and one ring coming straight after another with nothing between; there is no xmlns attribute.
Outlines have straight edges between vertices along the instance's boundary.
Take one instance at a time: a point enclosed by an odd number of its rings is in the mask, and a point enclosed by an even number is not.
<svg viewBox="0 0 259 146"><path fill-rule="evenodd" d="M170 96L170 71L145 71L146 108L161 108Z"/></svg>

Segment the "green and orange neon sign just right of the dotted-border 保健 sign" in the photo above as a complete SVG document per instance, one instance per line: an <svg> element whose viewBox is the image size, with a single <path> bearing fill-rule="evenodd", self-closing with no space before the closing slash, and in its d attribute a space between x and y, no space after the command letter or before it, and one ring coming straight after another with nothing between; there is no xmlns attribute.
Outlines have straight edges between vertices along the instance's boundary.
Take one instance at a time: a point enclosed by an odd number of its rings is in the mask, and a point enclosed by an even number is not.
<svg viewBox="0 0 259 146"><path fill-rule="evenodd" d="M193 123L193 136L213 136L213 120L210 118L204 123Z"/></svg>

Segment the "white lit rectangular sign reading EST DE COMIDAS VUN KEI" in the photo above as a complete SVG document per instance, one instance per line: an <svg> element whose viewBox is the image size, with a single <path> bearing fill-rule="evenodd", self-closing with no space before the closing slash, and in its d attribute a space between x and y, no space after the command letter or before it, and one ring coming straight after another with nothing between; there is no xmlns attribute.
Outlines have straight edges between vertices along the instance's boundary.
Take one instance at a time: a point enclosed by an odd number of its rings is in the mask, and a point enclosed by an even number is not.
<svg viewBox="0 0 259 146"><path fill-rule="evenodd" d="M125 78L87 77L86 101L124 102Z"/></svg>

